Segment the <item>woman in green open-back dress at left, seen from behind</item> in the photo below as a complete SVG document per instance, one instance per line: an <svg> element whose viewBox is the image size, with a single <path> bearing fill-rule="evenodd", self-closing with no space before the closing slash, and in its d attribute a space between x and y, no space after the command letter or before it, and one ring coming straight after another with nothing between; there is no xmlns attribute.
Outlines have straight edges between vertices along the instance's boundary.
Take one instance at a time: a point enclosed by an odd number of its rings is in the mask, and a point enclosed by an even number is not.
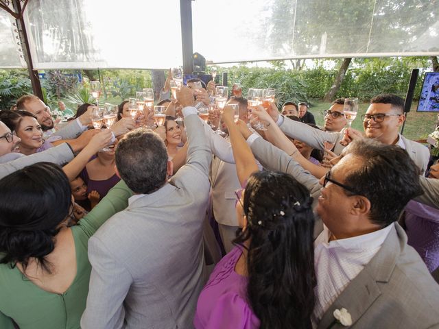
<svg viewBox="0 0 439 329"><path fill-rule="evenodd" d="M0 180L0 328L80 328L91 265L88 238L132 195L112 188L77 226L69 180L49 162Z"/></svg>

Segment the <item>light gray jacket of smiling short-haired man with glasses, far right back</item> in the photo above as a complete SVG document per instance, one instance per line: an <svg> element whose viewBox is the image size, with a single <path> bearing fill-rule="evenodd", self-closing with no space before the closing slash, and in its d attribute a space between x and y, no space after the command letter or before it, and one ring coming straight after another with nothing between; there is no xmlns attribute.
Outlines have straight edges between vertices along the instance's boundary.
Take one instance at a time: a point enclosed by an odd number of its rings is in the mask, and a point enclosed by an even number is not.
<svg viewBox="0 0 439 329"><path fill-rule="evenodd" d="M287 117L284 117L283 123L279 127L288 136L307 143L309 146L313 147L313 149L323 150L325 141L334 144L333 151L335 154L342 153L342 150L344 149L344 146L340 144L340 141L343 139L344 130L341 132L324 132ZM405 150L420 169L420 173L425 173L430 158L430 153L427 147L420 143L410 141L401 134L399 134L399 138L404 142Z"/></svg>

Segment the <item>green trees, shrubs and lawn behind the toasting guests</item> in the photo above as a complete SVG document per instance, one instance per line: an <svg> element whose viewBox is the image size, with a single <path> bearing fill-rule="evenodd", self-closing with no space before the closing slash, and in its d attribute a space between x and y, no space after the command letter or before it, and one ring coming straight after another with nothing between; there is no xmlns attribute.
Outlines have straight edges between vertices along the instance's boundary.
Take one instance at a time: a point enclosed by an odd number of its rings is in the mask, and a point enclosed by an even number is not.
<svg viewBox="0 0 439 329"><path fill-rule="evenodd" d="M221 73L227 72L230 89L233 83L239 82L244 96L248 88L276 88L276 97L280 104L287 100L307 101L311 104L310 112L316 117L316 122L322 125L322 111L330 106L330 103L324 103L322 99L333 84L341 62L342 59L319 59L307 65L297 65L295 61L291 63L295 69L289 69L291 65L288 66L287 61L270 62L270 67L257 67L252 63L241 63L233 67L217 66L216 81L221 82ZM379 93L394 93L405 97L410 74L415 68L420 69L420 75L404 135L414 140L425 138L434 130L437 120L434 113L416 112L423 76L426 71L432 71L429 58L355 58L336 97L359 97L359 118L366 112L370 98ZM45 71L45 79L41 83L45 101L51 108L57 108L56 103L60 99L75 110L82 103L84 95L89 95L89 77L102 82L103 96L99 99L101 102L120 103L123 99L134 96L137 90L153 87L152 75L147 70L82 71L82 83L78 83L75 73L78 71ZM32 93L26 70L0 70L0 108L10 108L17 98L26 93ZM361 120L356 119L353 127L362 130Z"/></svg>

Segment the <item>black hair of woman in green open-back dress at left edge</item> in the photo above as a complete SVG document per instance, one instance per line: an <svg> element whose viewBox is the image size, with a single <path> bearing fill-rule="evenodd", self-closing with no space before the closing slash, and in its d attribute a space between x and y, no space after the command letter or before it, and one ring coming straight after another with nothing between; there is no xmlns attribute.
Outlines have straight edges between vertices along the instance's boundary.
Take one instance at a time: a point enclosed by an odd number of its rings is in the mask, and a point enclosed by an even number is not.
<svg viewBox="0 0 439 329"><path fill-rule="evenodd" d="M71 207L71 189L61 167L39 162L0 180L0 263L25 270L29 258L50 273L45 257Z"/></svg>

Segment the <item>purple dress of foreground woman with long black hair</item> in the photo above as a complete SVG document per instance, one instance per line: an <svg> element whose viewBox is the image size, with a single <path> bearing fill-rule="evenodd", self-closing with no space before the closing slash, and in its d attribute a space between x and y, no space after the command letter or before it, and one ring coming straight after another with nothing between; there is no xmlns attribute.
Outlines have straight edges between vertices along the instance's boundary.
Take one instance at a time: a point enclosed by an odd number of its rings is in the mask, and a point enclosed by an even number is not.
<svg viewBox="0 0 439 329"><path fill-rule="evenodd" d="M235 272L241 247L219 261L198 297L193 324L196 329L254 329L259 319L247 303L247 278Z"/></svg>

